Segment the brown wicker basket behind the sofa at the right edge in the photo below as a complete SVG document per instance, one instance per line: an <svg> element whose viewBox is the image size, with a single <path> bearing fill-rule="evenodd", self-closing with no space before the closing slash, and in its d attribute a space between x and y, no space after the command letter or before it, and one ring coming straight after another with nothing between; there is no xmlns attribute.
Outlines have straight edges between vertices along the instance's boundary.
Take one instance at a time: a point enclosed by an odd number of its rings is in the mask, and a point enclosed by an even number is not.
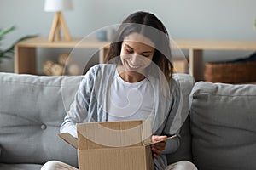
<svg viewBox="0 0 256 170"><path fill-rule="evenodd" d="M235 63L207 63L205 81L209 82L253 82L256 81L256 60Z"/></svg>

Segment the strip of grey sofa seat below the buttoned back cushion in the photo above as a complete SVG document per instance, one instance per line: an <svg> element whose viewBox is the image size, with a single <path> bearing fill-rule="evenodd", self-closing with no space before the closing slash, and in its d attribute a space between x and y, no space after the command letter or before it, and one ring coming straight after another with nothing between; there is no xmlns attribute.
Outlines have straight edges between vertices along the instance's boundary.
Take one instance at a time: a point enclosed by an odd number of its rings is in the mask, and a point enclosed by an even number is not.
<svg viewBox="0 0 256 170"><path fill-rule="evenodd" d="M40 170L42 165L39 164L5 164L0 163L1 170Z"/></svg>

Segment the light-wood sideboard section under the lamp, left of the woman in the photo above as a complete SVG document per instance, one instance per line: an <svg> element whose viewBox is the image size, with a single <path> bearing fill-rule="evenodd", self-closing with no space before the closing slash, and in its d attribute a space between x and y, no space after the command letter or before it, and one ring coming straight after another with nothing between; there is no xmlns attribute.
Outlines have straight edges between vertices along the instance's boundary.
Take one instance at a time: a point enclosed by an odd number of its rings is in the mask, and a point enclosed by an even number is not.
<svg viewBox="0 0 256 170"><path fill-rule="evenodd" d="M98 48L100 62L109 42L100 42L96 39L72 38L71 41L49 42L47 37L35 37L19 42L15 45L15 73L37 74L36 50L37 48Z"/></svg>

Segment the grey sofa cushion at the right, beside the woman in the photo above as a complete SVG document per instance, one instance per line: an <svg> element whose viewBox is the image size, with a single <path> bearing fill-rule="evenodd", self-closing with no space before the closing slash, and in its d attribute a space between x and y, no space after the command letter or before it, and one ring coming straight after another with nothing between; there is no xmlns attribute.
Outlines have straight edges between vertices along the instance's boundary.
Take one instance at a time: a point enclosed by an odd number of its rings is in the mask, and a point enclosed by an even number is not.
<svg viewBox="0 0 256 170"><path fill-rule="evenodd" d="M256 169L256 86L197 82L190 94L199 169Z"/></svg>

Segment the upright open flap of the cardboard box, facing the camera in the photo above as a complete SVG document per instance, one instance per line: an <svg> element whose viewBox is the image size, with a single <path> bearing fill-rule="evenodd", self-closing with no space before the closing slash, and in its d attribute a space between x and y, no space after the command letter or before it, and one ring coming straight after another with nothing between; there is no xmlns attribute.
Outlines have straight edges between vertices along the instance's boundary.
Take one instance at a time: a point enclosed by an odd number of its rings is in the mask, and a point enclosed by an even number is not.
<svg viewBox="0 0 256 170"><path fill-rule="evenodd" d="M150 143L151 122L90 122L78 125L79 150L142 146Z"/></svg>

